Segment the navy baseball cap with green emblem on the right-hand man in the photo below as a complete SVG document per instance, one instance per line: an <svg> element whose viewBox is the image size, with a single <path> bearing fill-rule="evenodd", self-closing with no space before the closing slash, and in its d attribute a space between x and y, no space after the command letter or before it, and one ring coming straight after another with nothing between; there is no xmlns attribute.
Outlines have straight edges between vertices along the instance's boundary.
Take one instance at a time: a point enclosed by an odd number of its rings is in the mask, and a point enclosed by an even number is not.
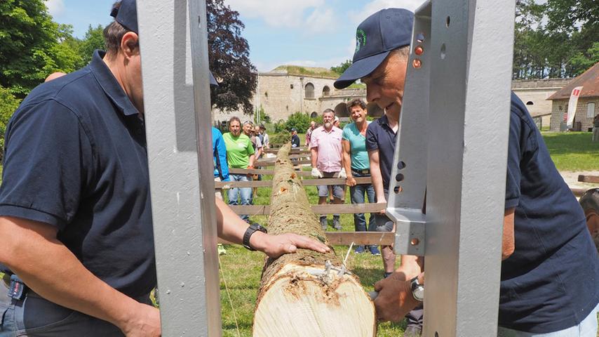
<svg viewBox="0 0 599 337"><path fill-rule="evenodd" d="M382 9L366 18L356 29L354 62L335 81L335 88L368 76L393 49L410 45L413 25L414 13L403 8Z"/></svg>

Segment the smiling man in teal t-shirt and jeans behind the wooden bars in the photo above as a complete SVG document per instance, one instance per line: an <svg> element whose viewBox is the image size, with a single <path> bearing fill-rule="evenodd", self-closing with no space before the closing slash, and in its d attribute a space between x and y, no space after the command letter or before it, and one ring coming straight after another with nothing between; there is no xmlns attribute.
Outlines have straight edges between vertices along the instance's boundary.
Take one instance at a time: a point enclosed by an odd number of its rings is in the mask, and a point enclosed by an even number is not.
<svg viewBox="0 0 599 337"><path fill-rule="evenodd" d="M375 188L372 184L356 184L354 177L370 177L370 161L366 151L366 130L369 121L366 120L366 104L361 99L352 100L348 105L349 116L354 123L343 128L342 147L343 164L347 175L346 185L349 186L349 196L352 204L364 204L365 194L368 202L375 202ZM364 213L354 213L354 227L356 232L375 230L375 216L370 214L368 227ZM377 246L356 246L356 253L370 250L372 255L381 255Z"/></svg>

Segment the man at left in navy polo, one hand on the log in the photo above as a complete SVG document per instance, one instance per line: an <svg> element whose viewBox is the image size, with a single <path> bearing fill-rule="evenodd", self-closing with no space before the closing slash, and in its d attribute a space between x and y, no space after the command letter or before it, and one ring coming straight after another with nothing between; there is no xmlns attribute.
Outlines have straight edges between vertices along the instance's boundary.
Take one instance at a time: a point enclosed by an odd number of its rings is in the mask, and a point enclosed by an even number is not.
<svg viewBox="0 0 599 337"><path fill-rule="evenodd" d="M135 0L111 15L107 53L35 88L8 124L0 336L160 336ZM328 251L216 206L224 239L269 256Z"/></svg>

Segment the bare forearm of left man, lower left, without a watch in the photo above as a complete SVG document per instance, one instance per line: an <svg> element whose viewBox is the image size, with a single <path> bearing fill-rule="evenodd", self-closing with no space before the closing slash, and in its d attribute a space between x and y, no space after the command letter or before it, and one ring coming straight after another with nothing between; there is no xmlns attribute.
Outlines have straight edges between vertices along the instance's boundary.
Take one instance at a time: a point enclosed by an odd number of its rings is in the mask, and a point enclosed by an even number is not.
<svg viewBox="0 0 599 337"><path fill-rule="evenodd" d="M50 225L3 217L0 232L0 262L43 298L121 329L138 310L140 303L98 279L52 238L55 230Z"/></svg>

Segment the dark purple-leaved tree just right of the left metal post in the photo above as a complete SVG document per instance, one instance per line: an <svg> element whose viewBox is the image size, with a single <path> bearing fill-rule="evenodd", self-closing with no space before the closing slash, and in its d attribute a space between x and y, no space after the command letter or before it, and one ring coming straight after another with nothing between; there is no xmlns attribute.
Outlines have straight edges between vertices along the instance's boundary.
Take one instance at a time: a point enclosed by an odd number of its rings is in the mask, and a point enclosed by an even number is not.
<svg viewBox="0 0 599 337"><path fill-rule="evenodd" d="M213 107L222 111L253 113L257 70L250 62L250 46L241 36L245 28L239 13L223 0L206 1L208 60L219 84L210 88Z"/></svg>

